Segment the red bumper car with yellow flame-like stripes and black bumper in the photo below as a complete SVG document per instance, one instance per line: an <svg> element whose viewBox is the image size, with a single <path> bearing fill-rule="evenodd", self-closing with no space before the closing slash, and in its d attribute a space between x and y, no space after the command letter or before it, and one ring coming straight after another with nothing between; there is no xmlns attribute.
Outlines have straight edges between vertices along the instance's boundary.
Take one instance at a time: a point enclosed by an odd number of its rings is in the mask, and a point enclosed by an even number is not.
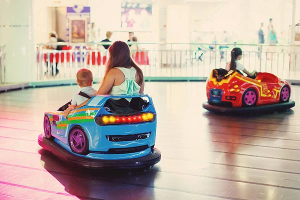
<svg viewBox="0 0 300 200"><path fill-rule="evenodd" d="M271 73L247 77L238 70L213 69L206 80L203 108L215 112L284 110L295 105L290 92L288 81Z"/></svg>

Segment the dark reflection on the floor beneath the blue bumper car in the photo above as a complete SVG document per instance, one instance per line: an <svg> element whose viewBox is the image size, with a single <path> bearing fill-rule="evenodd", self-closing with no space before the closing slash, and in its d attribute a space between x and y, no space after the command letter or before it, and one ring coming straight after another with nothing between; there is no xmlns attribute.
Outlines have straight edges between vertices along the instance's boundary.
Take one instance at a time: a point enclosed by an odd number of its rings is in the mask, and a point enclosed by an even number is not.
<svg viewBox="0 0 300 200"><path fill-rule="evenodd" d="M72 166L40 149L43 167L55 177L69 194L79 199L154 199L157 168L146 169L87 169ZM146 196L145 196L146 195Z"/></svg>

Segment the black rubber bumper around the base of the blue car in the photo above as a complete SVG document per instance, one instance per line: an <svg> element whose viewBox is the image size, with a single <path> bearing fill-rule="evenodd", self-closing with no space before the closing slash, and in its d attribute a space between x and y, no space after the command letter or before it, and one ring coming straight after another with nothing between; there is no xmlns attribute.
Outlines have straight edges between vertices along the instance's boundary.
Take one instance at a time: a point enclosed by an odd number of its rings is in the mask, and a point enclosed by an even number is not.
<svg viewBox="0 0 300 200"><path fill-rule="evenodd" d="M69 164L75 164L87 168L143 168L160 161L161 154L156 148L151 150L149 155L132 158L132 159L119 159L119 160L103 160L103 159L91 159L86 157L77 156L53 140L47 139L43 133L38 136L38 144L46 150L51 151L55 156L64 160Z"/></svg>

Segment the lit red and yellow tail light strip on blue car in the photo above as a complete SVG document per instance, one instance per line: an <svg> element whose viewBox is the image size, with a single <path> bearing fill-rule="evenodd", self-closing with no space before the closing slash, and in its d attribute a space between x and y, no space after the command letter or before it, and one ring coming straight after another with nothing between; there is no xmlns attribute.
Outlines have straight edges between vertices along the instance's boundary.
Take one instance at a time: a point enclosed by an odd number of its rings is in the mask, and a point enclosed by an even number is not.
<svg viewBox="0 0 300 200"><path fill-rule="evenodd" d="M142 112L134 115L111 115L103 114L95 117L95 122L98 125L112 125L112 124L130 124L130 123L142 123L151 122L155 119L155 113Z"/></svg>

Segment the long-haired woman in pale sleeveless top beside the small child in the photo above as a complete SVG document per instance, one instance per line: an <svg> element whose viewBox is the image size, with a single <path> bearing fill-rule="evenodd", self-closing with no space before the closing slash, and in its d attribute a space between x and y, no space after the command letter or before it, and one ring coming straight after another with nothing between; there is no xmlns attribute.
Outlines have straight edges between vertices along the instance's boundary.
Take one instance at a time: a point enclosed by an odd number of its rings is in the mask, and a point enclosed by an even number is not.
<svg viewBox="0 0 300 200"><path fill-rule="evenodd" d="M95 95L143 93L143 73L132 59L128 44L115 41L109 46L108 53L103 82ZM70 110L85 105L87 101L75 107L68 107L63 116L66 117Z"/></svg>

